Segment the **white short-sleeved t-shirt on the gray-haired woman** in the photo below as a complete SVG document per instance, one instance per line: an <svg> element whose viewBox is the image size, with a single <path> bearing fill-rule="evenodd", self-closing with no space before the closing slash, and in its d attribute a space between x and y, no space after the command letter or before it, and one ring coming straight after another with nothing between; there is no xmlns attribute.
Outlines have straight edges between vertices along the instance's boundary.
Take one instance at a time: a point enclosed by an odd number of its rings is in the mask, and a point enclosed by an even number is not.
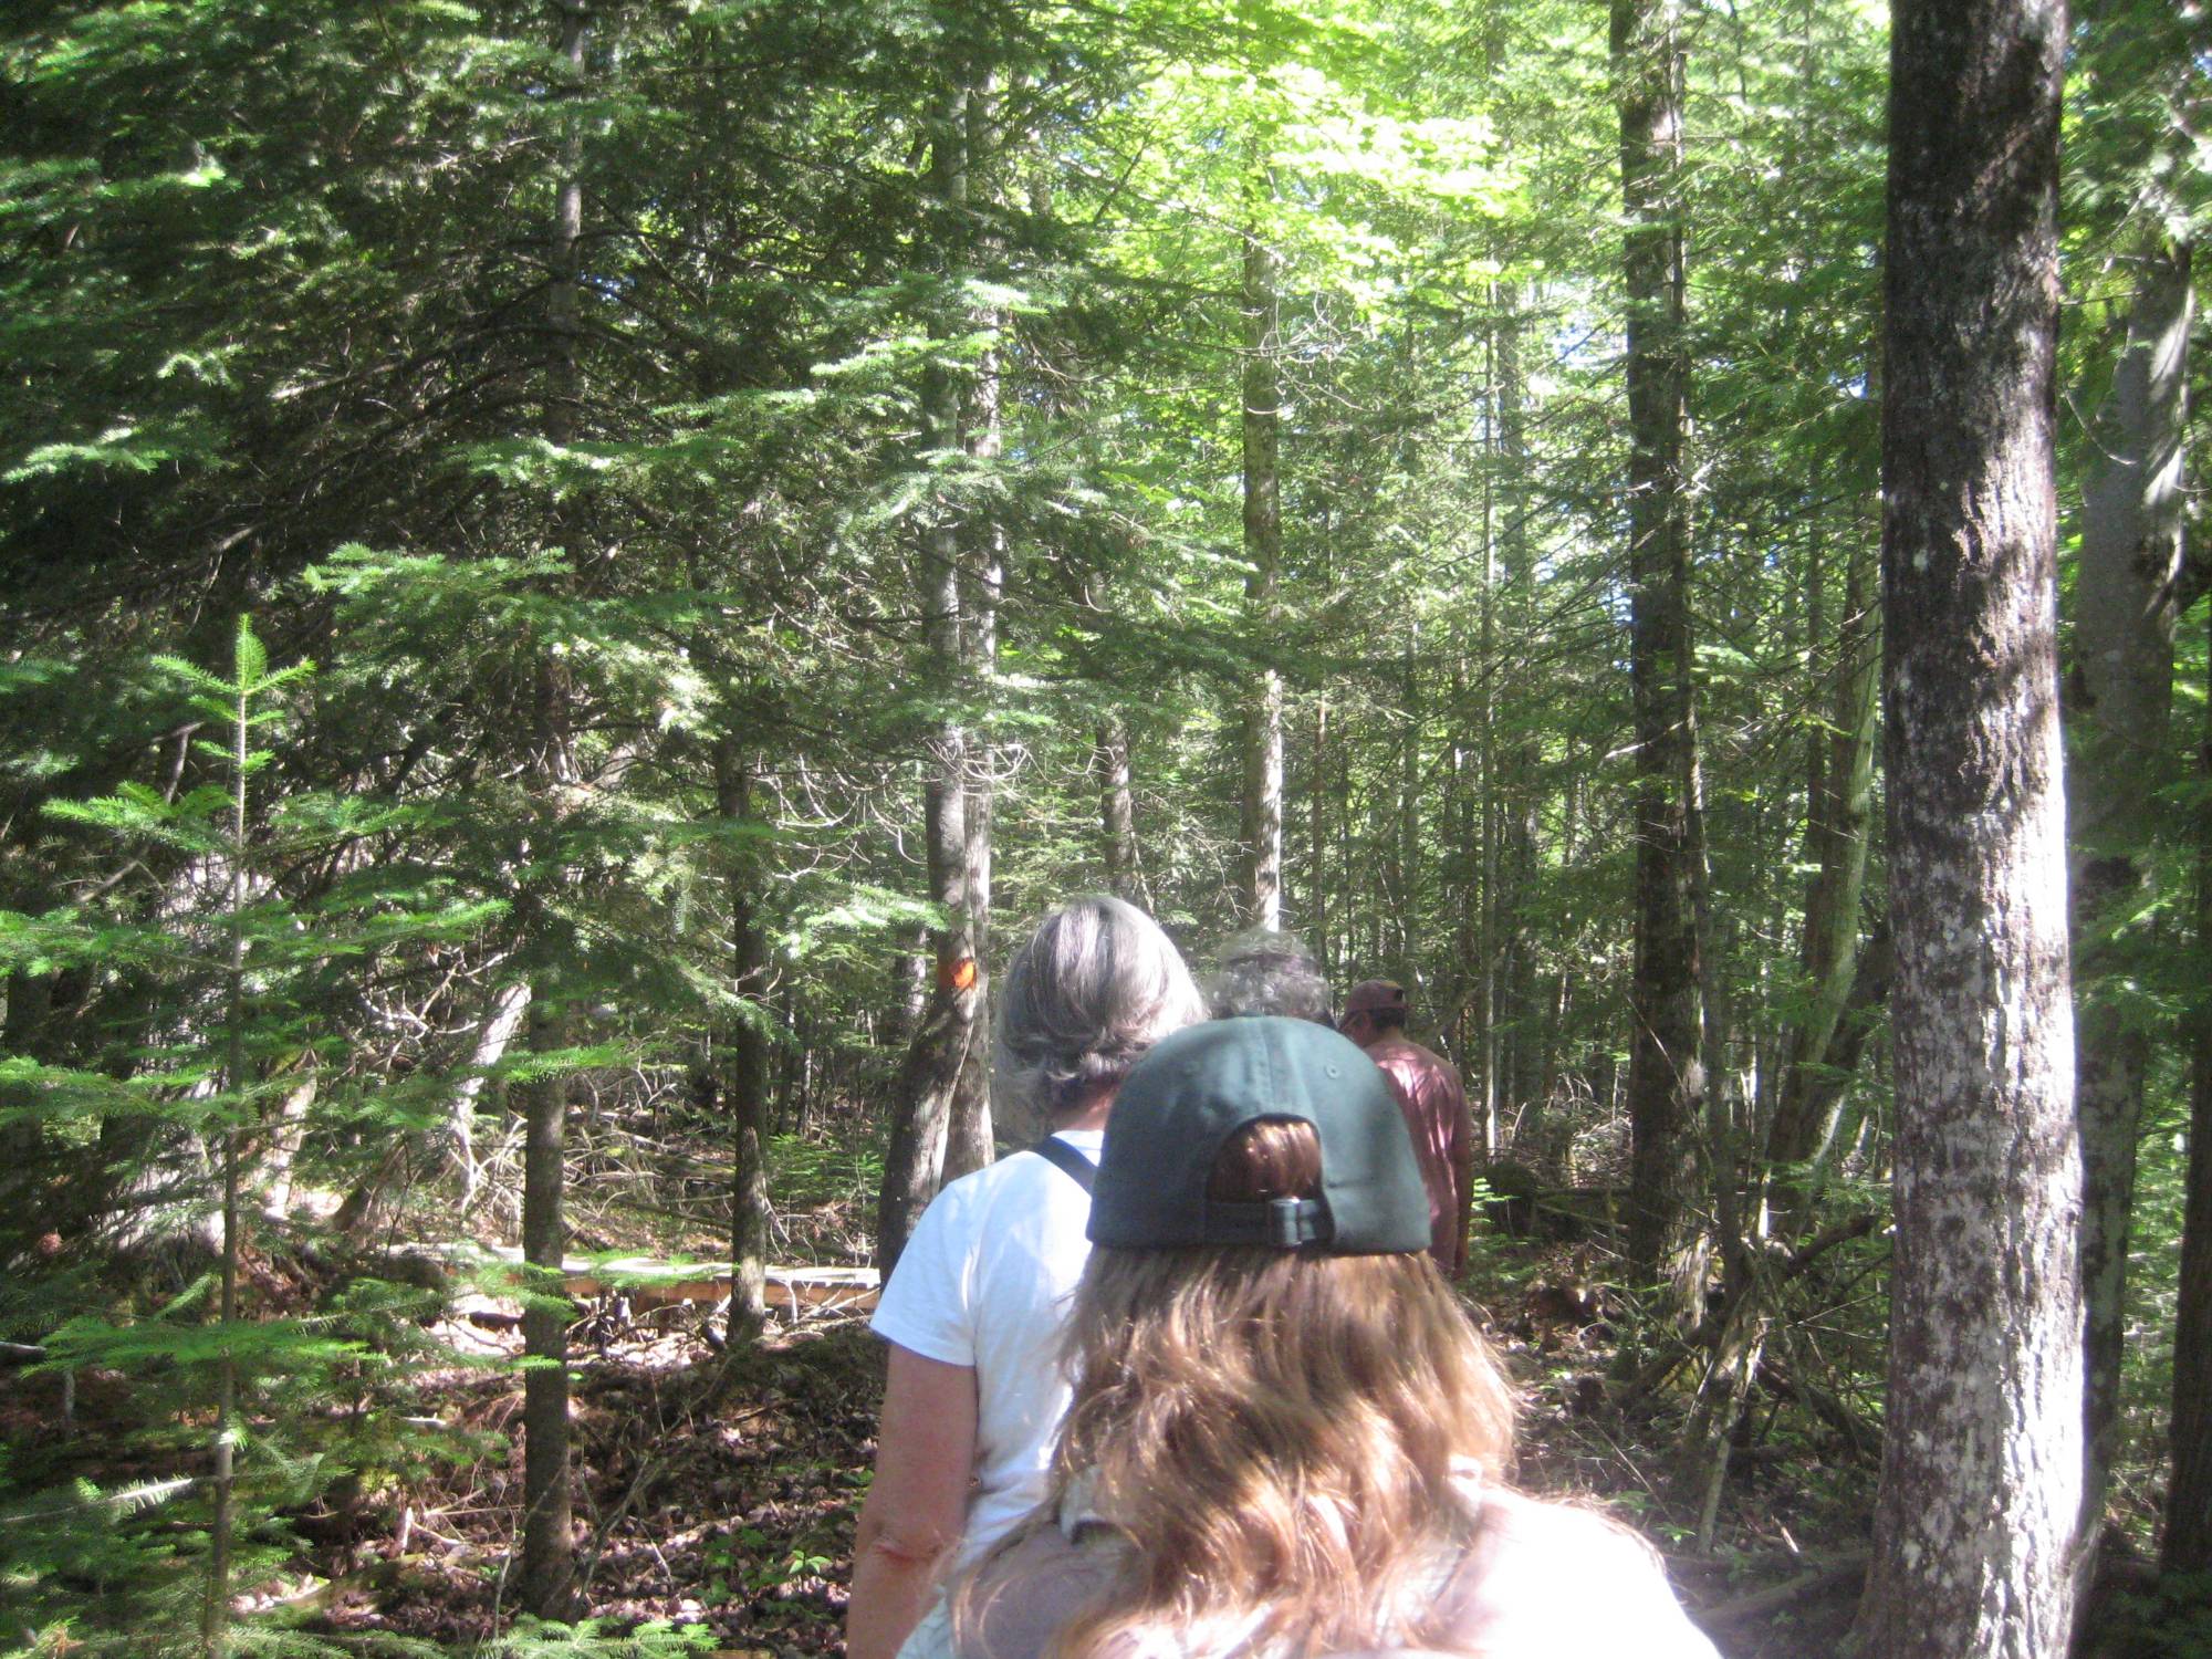
<svg viewBox="0 0 2212 1659"><path fill-rule="evenodd" d="M1106 1130L1060 1130L1097 1164ZM1044 1502L1053 1431L1068 1409L1060 1332L1091 1241L1091 1194L1035 1152L938 1192L883 1287L876 1336L925 1360L975 1367L975 1482L953 1566Z"/></svg>

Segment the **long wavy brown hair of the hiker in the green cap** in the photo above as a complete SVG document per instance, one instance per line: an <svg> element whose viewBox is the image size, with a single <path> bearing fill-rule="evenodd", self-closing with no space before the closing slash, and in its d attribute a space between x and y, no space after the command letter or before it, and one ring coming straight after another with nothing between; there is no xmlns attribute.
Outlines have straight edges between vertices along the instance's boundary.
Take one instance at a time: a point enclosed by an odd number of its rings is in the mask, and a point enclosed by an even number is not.
<svg viewBox="0 0 2212 1659"><path fill-rule="evenodd" d="M1287 1119L1232 1137L1208 1186L1318 1190L1314 1128ZM1018 1537L1073 1489L1126 1548L1051 1659L1146 1628L1283 1655L1453 1646L1433 1593L1478 1524L1464 1478L1504 1473L1513 1400L1427 1254L1102 1248L1066 1343L1075 1400Z"/></svg>

